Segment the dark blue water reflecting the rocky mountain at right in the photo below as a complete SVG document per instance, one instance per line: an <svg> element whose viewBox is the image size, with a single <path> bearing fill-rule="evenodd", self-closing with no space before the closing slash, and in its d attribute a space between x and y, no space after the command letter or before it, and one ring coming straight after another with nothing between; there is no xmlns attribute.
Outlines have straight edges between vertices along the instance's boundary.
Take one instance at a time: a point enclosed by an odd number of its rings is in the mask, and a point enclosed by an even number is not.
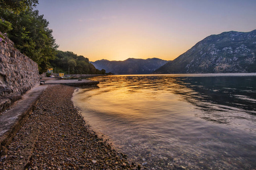
<svg viewBox="0 0 256 170"><path fill-rule="evenodd" d="M213 104L241 108L246 113L256 114L256 78L247 76L222 77L189 77L177 78L177 83L185 84L196 94L188 94L196 100L207 101ZM193 103L195 104L195 103Z"/></svg>

